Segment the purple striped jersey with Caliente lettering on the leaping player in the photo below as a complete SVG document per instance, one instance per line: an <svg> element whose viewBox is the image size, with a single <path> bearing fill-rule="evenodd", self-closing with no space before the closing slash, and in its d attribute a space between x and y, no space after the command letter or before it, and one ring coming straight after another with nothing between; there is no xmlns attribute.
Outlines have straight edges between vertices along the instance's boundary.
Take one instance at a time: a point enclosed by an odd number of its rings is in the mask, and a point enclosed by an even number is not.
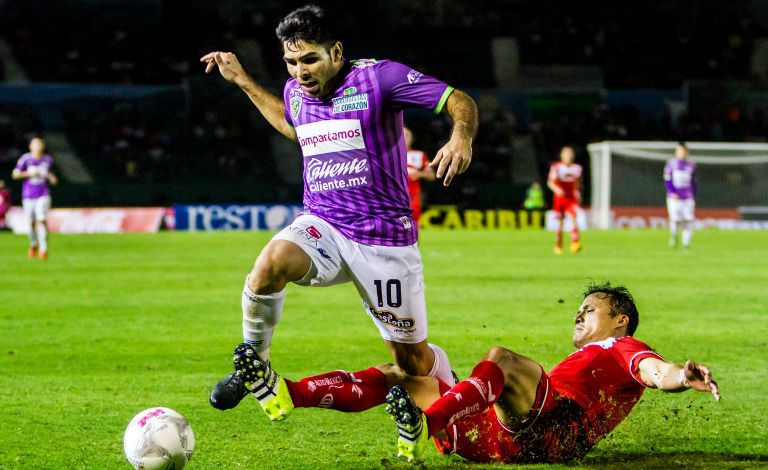
<svg viewBox="0 0 768 470"><path fill-rule="evenodd" d="M388 60L353 60L324 99L285 84L285 119L304 155L304 210L366 245L416 243L403 139L403 109L439 113L453 91Z"/></svg>

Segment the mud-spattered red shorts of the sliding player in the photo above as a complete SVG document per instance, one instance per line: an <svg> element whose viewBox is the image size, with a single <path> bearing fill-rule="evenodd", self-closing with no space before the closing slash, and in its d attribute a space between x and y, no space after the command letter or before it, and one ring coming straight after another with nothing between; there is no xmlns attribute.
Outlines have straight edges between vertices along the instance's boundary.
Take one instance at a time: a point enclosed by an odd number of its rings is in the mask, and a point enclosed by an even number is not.
<svg viewBox="0 0 768 470"><path fill-rule="evenodd" d="M448 441L438 448L473 462L562 462L589 451L592 446L587 441L587 429L584 409L555 390L542 370L536 401L520 430L506 428L491 407L448 426Z"/></svg>

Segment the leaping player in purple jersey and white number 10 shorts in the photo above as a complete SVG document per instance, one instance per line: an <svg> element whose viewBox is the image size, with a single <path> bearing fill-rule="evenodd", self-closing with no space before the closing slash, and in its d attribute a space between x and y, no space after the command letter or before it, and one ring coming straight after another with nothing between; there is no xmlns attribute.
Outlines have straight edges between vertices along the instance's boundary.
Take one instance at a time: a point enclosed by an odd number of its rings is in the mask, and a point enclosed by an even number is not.
<svg viewBox="0 0 768 470"><path fill-rule="evenodd" d="M200 59L206 73L218 67L239 86L304 156L304 213L264 247L246 278L243 337L251 354L268 361L287 283L353 282L395 362L409 374L452 383L445 352L427 342L403 110L421 107L451 117L450 140L431 163L447 186L471 161L477 107L465 93L405 65L344 57L334 26L316 6L299 8L280 22L276 32L291 75L282 98L257 84L232 53ZM211 404L232 408L247 391L273 420L292 409L276 374L246 383L233 372L216 384Z"/></svg>

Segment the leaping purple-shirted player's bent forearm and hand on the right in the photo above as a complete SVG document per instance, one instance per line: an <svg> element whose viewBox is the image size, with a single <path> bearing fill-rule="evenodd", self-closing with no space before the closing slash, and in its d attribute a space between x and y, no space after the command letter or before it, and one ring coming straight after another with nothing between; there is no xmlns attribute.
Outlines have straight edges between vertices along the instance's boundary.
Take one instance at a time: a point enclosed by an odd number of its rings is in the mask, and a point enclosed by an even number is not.
<svg viewBox="0 0 768 470"><path fill-rule="evenodd" d="M472 139L477 134L478 118L475 100L460 90L451 93L445 110L453 121L451 138L437 151L430 166L437 168L436 176L443 179L443 186L448 186L472 161Z"/></svg>

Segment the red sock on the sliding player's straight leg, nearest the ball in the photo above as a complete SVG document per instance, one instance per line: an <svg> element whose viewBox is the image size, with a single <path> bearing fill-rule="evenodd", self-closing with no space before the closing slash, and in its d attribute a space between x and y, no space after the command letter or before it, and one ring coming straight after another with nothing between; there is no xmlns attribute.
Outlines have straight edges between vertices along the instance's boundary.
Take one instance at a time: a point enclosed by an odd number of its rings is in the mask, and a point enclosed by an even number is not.
<svg viewBox="0 0 768 470"><path fill-rule="evenodd" d="M336 370L285 383L296 408L365 411L384 403L389 392L386 376L375 367L351 374Z"/></svg>

